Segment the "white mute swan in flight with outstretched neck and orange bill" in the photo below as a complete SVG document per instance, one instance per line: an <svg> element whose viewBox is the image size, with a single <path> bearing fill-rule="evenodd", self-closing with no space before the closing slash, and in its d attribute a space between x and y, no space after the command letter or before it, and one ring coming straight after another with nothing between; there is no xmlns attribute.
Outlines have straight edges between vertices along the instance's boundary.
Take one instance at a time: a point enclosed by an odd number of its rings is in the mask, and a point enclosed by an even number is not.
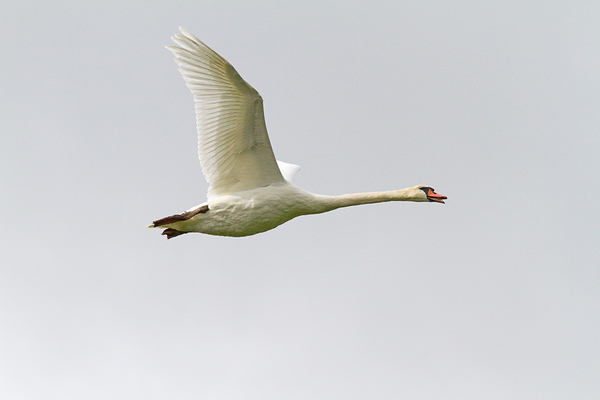
<svg viewBox="0 0 600 400"><path fill-rule="evenodd" d="M208 201L156 220L167 239L189 232L248 236L299 215L384 201L444 203L446 196L417 185L388 192L324 196L294 185L299 166L275 160L260 94L223 57L179 28L167 46L194 95L198 154L209 183Z"/></svg>

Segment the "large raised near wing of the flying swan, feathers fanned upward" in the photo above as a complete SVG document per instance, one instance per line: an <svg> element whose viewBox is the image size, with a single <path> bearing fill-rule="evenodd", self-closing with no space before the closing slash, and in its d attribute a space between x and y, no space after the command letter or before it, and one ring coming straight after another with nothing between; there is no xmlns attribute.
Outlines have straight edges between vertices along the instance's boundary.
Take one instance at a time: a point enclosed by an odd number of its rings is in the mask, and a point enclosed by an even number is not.
<svg viewBox="0 0 600 400"><path fill-rule="evenodd" d="M208 197L283 182L267 135L260 94L194 35L174 35L179 71L194 95L198 156Z"/></svg>

